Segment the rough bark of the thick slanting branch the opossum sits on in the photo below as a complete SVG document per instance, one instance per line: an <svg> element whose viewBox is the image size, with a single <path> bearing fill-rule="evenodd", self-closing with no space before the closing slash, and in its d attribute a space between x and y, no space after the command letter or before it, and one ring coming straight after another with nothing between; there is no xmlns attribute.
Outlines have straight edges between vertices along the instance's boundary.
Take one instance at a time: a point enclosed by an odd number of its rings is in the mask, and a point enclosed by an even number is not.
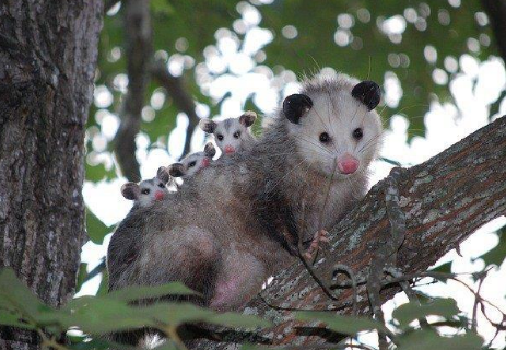
<svg viewBox="0 0 506 350"><path fill-rule="evenodd" d="M397 267L404 273L421 272L469 237L476 229L506 214L506 116L480 129L437 156L400 171L400 208L405 213L405 241L398 250ZM336 264L349 266L356 278L365 278L375 254L392 240L385 206L386 182L378 183L331 232L330 247L314 270L331 279ZM358 313L370 314L365 285L358 291ZM398 289L384 290L384 301ZM276 326L255 337L274 345L314 346L326 342L318 324L292 320L283 308L352 311L352 291L337 291L338 301L322 292L302 264L280 272L252 300L245 312L260 315ZM263 299L263 300L262 300ZM264 302L266 301L266 302ZM325 336L326 335L326 336ZM227 334L224 342L205 343L205 349L236 349L244 334ZM200 348L204 342L200 343ZM198 347L199 348L199 347ZM199 349L200 349L199 348Z"/></svg>

